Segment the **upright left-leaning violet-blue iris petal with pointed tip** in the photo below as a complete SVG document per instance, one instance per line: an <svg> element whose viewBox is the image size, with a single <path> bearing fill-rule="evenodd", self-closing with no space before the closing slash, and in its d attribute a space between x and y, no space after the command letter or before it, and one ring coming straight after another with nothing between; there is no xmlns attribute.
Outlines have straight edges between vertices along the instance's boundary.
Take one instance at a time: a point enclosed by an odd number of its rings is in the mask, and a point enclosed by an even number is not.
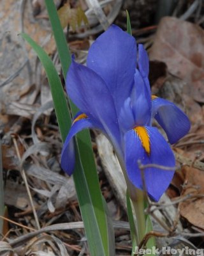
<svg viewBox="0 0 204 256"><path fill-rule="evenodd" d="M78 108L98 120L108 135L120 141L120 131L112 95L105 81L90 68L72 61L66 77L66 90Z"/></svg>

